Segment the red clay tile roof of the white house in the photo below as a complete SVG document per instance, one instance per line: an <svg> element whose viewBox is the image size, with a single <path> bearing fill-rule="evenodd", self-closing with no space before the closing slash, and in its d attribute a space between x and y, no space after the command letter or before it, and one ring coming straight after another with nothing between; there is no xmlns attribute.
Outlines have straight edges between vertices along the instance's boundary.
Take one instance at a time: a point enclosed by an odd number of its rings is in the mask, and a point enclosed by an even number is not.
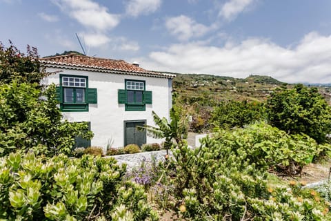
<svg viewBox="0 0 331 221"><path fill-rule="evenodd" d="M60 65L70 66L72 68L93 68L97 70L110 70L116 72L124 72L128 74L145 74L154 75L155 77L175 77L175 75L168 75L165 73L157 73L150 70L145 70L134 64L129 64L123 60L104 59L99 57L88 57L84 55L70 54L70 55L59 55L54 57L43 57L39 59L41 64L46 66Z"/></svg>

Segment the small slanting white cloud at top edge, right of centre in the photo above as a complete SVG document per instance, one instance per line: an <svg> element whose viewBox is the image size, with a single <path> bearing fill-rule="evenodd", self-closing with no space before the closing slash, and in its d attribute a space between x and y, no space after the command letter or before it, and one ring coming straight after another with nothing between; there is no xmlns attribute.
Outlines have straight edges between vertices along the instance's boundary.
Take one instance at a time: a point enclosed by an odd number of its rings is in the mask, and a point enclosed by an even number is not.
<svg viewBox="0 0 331 221"><path fill-rule="evenodd" d="M231 20L237 17L239 13L243 12L253 2L254 0L230 0L222 6L219 16Z"/></svg>

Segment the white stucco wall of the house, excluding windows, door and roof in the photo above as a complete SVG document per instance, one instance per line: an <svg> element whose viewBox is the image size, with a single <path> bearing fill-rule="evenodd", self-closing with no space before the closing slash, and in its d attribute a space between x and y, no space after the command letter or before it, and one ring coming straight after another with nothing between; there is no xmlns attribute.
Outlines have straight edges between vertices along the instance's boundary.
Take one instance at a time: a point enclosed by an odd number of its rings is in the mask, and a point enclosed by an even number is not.
<svg viewBox="0 0 331 221"><path fill-rule="evenodd" d="M50 73L61 69L47 68ZM124 144L124 121L146 120L148 125L154 125L152 111L160 117L169 119L171 106L171 81L167 78L143 77L134 75L119 75L109 73L88 72L84 70L62 69L43 79L42 84L57 84L59 86L59 75L88 76L88 87L97 88L97 104L89 104L88 112L63 112L63 118L70 122L91 122L91 131L94 137L92 146L106 148L108 140L114 141L114 147ZM146 104L146 111L125 111L125 104L119 104L117 100L118 89L125 88L125 79L146 81L146 90L152 90L152 104ZM146 137L147 143L161 142L152 137Z"/></svg>

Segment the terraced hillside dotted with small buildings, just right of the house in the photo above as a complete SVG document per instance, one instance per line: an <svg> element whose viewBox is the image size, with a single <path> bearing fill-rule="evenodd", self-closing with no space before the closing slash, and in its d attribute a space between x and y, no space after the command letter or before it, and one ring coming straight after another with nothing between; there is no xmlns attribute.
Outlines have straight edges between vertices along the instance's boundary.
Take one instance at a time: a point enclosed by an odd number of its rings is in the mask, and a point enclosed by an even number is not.
<svg viewBox="0 0 331 221"><path fill-rule="evenodd" d="M285 84L261 75L241 79L216 75L172 74L177 75L173 80L173 89L178 102L188 105L194 102L216 104L221 100L263 101L272 90Z"/></svg>

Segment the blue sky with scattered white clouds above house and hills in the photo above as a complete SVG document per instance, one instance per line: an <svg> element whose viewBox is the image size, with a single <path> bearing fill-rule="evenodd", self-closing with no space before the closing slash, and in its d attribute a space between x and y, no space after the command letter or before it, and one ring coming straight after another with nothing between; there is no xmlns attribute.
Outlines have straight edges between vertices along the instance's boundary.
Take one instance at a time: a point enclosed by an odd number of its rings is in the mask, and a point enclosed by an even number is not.
<svg viewBox="0 0 331 221"><path fill-rule="evenodd" d="M330 0L0 0L0 41L147 70L331 83Z"/></svg>

